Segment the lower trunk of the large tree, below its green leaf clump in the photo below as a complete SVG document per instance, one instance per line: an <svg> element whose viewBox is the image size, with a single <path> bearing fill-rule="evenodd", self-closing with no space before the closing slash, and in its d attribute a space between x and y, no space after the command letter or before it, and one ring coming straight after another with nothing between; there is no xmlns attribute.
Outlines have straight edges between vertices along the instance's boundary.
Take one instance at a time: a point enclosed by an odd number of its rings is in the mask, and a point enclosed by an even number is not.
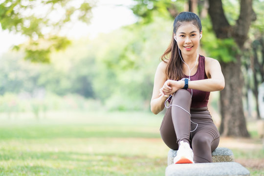
<svg viewBox="0 0 264 176"><path fill-rule="evenodd" d="M240 56L237 62L221 63L225 77L225 88L220 91L222 136L249 137L242 105L243 78Z"/></svg>

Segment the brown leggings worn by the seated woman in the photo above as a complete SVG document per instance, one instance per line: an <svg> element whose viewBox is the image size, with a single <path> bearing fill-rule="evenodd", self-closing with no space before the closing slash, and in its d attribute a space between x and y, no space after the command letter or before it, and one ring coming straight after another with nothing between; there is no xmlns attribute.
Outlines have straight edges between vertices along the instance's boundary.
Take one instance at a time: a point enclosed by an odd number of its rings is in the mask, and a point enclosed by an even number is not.
<svg viewBox="0 0 264 176"><path fill-rule="evenodd" d="M191 117L185 110L170 106L161 123L161 138L173 150L178 149L179 141L188 142L193 149L195 163L213 162L212 152L219 144L220 134L207 107L190 109L191 101L191 94L185 89L174 93L170 105L182 107L191 113ZM191 120L198 126L191 123ZM193 130L195 131L190 132Z"/></svg>

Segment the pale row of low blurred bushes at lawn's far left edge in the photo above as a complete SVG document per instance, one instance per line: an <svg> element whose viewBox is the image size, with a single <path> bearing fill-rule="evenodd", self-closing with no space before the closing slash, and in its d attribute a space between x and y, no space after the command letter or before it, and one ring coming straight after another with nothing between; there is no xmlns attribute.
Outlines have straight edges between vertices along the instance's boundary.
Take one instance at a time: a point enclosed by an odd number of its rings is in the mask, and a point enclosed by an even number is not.
<svg viewBox="0 0 264 176"><path fill-rule="evenodd" d="M5 93L0 96L0 113L5 113L8 118L17 118L23 112L31 112L34 118L45 118L47 111L83 110L95 111L104 110L98 100L85 99L78 94L67 94L58 96L51 92L41 94L35 91L30 94L21 92L20 94Z"/></svg>

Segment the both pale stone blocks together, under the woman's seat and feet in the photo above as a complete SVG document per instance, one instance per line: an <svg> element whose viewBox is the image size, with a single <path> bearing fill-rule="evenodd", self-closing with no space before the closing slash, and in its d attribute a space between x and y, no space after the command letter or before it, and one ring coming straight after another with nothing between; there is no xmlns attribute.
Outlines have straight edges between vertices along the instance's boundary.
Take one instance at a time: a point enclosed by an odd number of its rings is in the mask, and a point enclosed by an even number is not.
<svg viewBox="0 0 264 176"><path fill-rule="evenodd" d="M177 151L168 153L166 176L250 176L249 171L241 164L234 162L230 149L217 148L212 152L212 163L173 164Z"/></svg>

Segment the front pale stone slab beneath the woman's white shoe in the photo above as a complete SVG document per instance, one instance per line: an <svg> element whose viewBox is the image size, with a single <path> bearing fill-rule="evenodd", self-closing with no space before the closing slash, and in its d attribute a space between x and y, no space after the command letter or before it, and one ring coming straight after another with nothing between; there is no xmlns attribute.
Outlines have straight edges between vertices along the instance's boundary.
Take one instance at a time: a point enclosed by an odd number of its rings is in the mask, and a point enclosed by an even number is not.
<svg viewBox="0 0 264 176"><path fill-rule="evenodd" d="M250 176L250 173L237 162L213 162L171 164L165 176Z"/></svg>

